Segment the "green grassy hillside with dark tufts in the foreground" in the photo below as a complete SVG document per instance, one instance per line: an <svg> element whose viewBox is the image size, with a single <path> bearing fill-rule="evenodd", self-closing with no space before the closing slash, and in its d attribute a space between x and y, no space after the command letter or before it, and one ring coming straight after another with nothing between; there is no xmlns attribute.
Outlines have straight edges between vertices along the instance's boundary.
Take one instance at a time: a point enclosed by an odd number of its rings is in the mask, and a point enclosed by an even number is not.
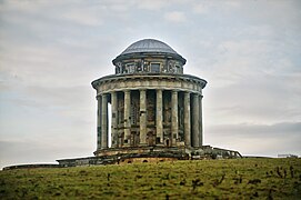
<svg viewBox="0 0 301 200"><path fill-rule="evenodd" d="M301 159L0 171L0 199L301 199Z"/></svg>

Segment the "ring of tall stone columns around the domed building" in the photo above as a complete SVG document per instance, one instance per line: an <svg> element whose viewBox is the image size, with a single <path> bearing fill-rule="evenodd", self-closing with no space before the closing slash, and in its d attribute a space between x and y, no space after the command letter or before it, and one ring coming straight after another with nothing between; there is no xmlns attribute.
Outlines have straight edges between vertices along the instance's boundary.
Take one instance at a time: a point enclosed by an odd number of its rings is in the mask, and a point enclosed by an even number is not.
<svg viewBox="0 0 301 200"><path fill-rule="evenodd" d="M139 146L146 147L147 143L147 91L139 90ZM163 92L171 92L171 126L169 143L164 143L163 133ZM120 138L120 129L122 129L122 146L112 142L112 148L131 147L131 90L118 91L123 92L124 114L122 128L118 124L118 93L117 91L103 92L97 96L98 100L98 149L109 148L109 116L108 103L111 103L111 138L117 141ZM177 147L179 138L179 92L183 93L183 142L185 147L202 146L202 96L190 91L179 90L155 90L155 141L158 146Z"/></svg>

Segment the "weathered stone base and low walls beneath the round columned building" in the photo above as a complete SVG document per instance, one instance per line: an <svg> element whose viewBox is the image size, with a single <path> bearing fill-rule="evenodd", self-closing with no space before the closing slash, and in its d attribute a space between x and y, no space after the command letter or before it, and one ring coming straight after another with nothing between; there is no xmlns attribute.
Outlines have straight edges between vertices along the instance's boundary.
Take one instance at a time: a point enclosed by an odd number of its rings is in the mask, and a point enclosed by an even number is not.
<svg viewBox="0 0 301 200"><path fill-rule="evenodd" d="M100 150L97 157L57 160L61 167L122 164L132 162L160 162L171 160L232 159L242 158L238 151L212 148L137 147Z"/></svg>

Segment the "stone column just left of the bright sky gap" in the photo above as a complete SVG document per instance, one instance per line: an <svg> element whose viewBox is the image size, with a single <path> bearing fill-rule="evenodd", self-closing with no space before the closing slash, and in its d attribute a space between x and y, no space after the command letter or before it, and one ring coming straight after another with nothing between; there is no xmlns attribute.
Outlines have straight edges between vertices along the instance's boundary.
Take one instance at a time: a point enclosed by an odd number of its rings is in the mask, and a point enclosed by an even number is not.
<svg viewBox="0 0 301 200"><path fill-rule="evenodd" d="M102 94L101 112L101 149L108 148L108 94Z"/></svg>

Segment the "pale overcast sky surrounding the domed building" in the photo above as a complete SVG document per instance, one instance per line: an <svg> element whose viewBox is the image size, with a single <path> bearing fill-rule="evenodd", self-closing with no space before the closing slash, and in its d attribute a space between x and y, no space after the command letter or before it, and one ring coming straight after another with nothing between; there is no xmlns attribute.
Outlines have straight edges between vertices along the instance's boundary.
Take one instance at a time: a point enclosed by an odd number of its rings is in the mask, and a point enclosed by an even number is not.
<svg viewBox="0 0 301 200"><path fill-rule="evenodd" d="M0 167L92 156L90 83L146 38L208 81L204 144L301 156L301 1L0 0Z"/></svg>

